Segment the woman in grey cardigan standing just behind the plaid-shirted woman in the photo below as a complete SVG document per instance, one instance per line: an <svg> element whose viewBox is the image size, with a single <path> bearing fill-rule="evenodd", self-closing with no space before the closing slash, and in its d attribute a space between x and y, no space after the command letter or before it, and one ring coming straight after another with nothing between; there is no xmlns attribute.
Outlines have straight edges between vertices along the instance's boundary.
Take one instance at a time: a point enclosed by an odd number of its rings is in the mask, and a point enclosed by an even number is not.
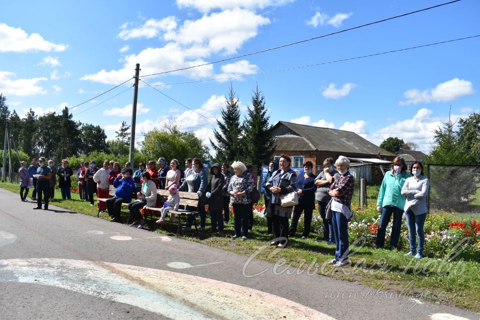
<svg viewBox="0 0 480 320"><path fill-rule="evenodd" d="M333 229L331 228L331 219L326 219L325 216L326 205L331 199L331 196L328 194L328 188L339 174L333 167L333 162L333 158L323 160L323 170L315 178L315 185L317 186L315 199L318 203L318 212L320 212L323 221L323 238L317 241L327 241L326 244L335 244Z"/></svg>

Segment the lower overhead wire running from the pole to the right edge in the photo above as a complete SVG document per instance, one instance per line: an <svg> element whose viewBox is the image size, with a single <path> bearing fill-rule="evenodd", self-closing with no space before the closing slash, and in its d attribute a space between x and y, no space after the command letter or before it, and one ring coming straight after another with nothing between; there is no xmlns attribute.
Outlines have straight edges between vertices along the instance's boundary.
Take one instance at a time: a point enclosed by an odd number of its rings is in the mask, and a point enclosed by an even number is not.
<svg viewBox="0 0 480 320"><path fill-rule="evenodd" d="M457 38L457 39L440 41L440 42L434 42L434 43L428 43L428 44L422 44L422 45L416 45L416 46L411 46L411 47L407 47L407 48L395 49L395 50L378 52L378 53L372 53L372 54L367 54L367 55L360 55L360 56L355 56L355 57L345 58L345 59L340 59L340 60L332 60L332 61L320 62L320 63L315 63L315 64L300 65L300 66L294 66L294 67L290 67L290 68L270 70L270 71L257 72L257 73L251 73L251 74L233 75L233 76L226 76L226 77L221 77L221 78L195 80L195 81L185 81L185 82L175 82L175 83L163 83L163 84L151 84L151 85L148 84L148 85L150 85L150 86L159 86L159 85L188 84L188 83L198 83L198 82L215 81L215 80L226 80L226 79L233 79L233 78L239 78L239 77L244 77L244 76L268 74L268 73L274 73L274 72L291 71L291 70L295 70L295 69L307 68L307 67L312 67L312 66L319 66L319 65L322 65L322 64L330 64L330 63L336 63L336 62L343 62L343 61L349 61L349 60L355 60L355 59L361 59L361 58L371 57L371 56L375 56L375 55L382 55L382 54L387 54L387 53L393 53L393 52L399 52L399 51L412 50L412 49L422 48L422 47L426 47L426 46L432 46L432 45L443 44L443 43L448 43L448 42L454 42L454 41L459 41L459 40L471 39L471 38L475 38L475 37L479 37L479 36L480 36L480 34L477 34L477 35L472 35L472 36L466 36L466 37L463 37L463 38ZM146 85L144 85L144 86L146 86Z"/></svg>

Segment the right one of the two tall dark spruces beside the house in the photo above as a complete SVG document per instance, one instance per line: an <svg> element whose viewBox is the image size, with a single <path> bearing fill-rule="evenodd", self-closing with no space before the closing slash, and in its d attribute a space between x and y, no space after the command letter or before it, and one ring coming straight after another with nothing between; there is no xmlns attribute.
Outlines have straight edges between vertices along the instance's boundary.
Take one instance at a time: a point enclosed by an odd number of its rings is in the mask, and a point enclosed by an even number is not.
<svg viewBox="0 0 480 320"><path fill-rule="evenodd" d="M251 164L257 165L257 174L261 165L268 163L274 151L272 125L266 111L265 97L257 86L251 95L251 106L247 106L247 116L243 123L245 155Z"/></svg>

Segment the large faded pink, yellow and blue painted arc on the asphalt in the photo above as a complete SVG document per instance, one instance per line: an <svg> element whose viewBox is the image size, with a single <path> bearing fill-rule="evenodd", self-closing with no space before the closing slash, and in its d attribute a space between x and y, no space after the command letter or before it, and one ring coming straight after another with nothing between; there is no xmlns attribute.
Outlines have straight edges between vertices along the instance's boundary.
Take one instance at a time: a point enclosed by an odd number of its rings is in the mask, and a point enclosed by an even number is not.
<svg viewBox="0 0 480 320"><path fill-rule="evenodd" d="M167 270L70 259L0 260L0 281L60 287L138 306L171 319L333 320L248 287Z"/></svg>

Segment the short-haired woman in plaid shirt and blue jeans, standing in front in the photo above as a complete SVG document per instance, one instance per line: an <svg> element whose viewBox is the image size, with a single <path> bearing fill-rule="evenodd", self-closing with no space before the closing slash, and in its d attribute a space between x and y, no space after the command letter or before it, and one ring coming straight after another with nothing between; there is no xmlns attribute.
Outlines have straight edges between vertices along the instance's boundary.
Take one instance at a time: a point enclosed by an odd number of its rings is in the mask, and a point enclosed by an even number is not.
<svg viewBox="0 0 480 320"><path fill-rule="evenodd" d="M331 226L335 238L335 258L329 261L334 267L343 267L349 264L348 220L351 219L351 197L353 195L355 178L348 171L350 160L340 155L335 165L338 169L338 177L335 178L328 188L331 200L326 208L326 215L331 212Z"/></svg>

